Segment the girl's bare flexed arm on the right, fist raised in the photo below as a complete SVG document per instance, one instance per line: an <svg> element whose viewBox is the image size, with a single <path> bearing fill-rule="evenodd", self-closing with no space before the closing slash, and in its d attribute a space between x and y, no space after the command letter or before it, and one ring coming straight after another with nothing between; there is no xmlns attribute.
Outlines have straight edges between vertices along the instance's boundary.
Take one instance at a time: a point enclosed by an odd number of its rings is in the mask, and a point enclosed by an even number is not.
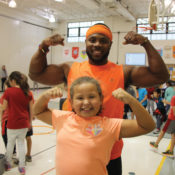
<svg viewBox="0 0 175 175"><path fill-rule="evenodd" d="M136 120L123 120L120 138L139 136L151 132L155 128L155 122L152 116L136 98L121 88L113 91L113 96L125 104L129 104L136 116Z"/></svg>

